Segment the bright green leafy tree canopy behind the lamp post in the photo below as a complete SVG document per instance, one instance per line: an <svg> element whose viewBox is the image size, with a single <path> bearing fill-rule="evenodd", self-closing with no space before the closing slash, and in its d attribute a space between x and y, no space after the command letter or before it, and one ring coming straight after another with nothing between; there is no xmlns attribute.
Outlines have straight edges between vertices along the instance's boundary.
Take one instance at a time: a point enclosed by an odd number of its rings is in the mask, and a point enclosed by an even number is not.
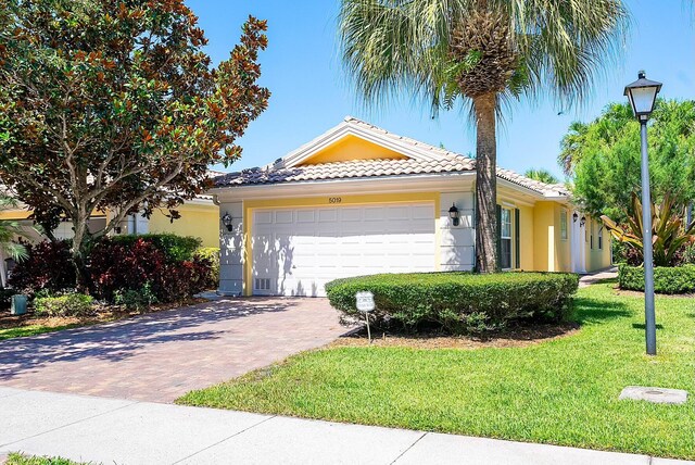
<svg viewBox="0 0 695 465"><path fill-rule="evenodd" d="M652 194L678 205L695 200L695 101L660 100L648 129ZM626 219L630 196L641 187L640 123L628 103L608 105L595 121L573 123L559 164L572 192L592 215Z"/></svg>

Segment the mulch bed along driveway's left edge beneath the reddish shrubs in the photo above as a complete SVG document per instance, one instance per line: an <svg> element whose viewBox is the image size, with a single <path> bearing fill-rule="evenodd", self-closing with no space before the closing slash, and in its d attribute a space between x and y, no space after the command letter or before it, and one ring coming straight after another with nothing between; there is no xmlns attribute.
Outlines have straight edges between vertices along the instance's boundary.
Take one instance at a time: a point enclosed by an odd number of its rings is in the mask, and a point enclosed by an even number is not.
<svg viewBox="0 0 695 465"><path fill-rule="evenodd" d="M73 325L73 326L87 326L98 323L115 322L116 319L129 318L131 316L144 315L148 313L162 312L165 310L178 309L179 306L194 305L198 303L207 302L205 299L189 299L185 302L175 303L159 303L151 305L149 309L142 311L130 311L119 305L100 306L94 315L90 316L36 316L34 312L29 310L24 315L12 315L10 309L0 310L0 329L13 329L21 328L23 326L40 325L49 328L55 328L60 326Z"/></svg>

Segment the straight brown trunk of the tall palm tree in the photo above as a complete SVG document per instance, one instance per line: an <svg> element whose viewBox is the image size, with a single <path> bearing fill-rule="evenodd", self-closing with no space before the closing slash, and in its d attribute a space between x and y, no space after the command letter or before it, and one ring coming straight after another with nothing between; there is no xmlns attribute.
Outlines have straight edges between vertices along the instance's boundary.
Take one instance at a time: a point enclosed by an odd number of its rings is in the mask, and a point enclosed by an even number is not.
<svg viewBox="0 0 695 465"><path fill-rule="evenodd" d="M476 269L497 269L497 140L495 128L496 95L473 99L476 111Z"/></svg>

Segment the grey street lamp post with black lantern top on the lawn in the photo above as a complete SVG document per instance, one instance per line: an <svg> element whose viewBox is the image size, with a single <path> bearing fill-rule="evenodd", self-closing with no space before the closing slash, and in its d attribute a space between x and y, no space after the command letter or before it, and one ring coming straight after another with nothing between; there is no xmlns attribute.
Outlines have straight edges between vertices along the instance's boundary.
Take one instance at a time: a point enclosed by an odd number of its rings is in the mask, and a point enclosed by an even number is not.
<svg viewBox="0 0 695 465"><path fill-rule="evenodd" d="M642 246L644 251L644 316L647 354L656 355L656 316L654 313L654 252L652 232L652 194L649 191L649 155L647 154L647 121L654 111L661 83L646 78L644 71L637 80L626 86L632 111L640 122L642 137Z"/></svg>

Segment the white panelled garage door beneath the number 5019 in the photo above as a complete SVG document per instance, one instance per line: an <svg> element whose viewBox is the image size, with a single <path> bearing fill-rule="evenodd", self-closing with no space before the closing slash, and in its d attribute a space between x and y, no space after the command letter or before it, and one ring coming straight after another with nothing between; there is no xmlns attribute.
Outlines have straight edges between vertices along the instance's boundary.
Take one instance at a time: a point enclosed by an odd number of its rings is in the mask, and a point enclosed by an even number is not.
<svg viewBox="0 0 695 465"><path fill-rule="evenodd" d="M325 296L332 279L434 269L433 203L257 210L253 293Z"/></svg>

